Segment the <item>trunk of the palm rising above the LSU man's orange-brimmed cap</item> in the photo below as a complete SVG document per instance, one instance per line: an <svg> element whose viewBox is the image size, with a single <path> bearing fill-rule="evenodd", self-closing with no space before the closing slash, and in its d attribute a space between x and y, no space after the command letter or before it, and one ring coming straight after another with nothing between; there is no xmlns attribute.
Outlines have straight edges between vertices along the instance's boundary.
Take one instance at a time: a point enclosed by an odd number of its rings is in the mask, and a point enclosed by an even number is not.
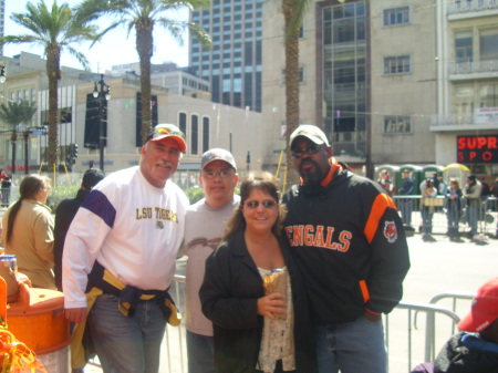
<svg viewBox="0 0 498 373"><path fill-rule="evenodd" d="M145 144L151 131L151 58L154 52L153 40L154 21L142 19L136 22L136 51L141 60L141 90L142 90L142 144Z"/></svg>

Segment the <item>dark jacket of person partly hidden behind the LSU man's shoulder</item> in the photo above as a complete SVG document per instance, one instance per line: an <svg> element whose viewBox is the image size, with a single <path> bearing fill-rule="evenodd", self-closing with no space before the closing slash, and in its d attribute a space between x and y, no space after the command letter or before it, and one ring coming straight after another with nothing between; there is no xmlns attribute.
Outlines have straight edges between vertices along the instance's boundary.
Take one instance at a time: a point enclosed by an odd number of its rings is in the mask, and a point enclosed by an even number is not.
<svg viewBox="0 0 498 373"><path fill-rule="evenodd" d="M53 255L55 259L55 286L62 291L62 252L64 250L65 235L83 200L90 190L79 189L75 198L62 200L55 210Z"/></svg>

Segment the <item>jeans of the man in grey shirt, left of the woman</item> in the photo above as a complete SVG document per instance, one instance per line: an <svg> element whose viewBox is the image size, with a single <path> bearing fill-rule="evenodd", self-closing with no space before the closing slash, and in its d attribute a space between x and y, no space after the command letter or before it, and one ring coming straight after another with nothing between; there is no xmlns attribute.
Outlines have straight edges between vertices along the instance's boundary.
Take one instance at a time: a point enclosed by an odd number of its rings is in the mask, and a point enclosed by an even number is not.
<svg viewBox="0 0 498 373"><path fill-rule="evenodd" d="M188 373L215 373L215 339L187 330Z"/></svg>

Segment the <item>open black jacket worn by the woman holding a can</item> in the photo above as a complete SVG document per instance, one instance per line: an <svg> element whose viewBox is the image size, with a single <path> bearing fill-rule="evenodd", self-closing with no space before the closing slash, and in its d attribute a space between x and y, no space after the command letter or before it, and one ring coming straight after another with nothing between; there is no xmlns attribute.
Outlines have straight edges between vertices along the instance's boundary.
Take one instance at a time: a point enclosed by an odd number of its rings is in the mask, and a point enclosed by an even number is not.
<svg viewBox="0 0 498 373"><path fill-rule="evenodd" d="M283 237L280 246L292 286L297 371L313 373L317 365L309 302ZM216 373L256 371L263 328L263 317L258 315L257 303L263 296L261 276L241 231L209 256L199 290L203 312L214 324Z"/></svg>

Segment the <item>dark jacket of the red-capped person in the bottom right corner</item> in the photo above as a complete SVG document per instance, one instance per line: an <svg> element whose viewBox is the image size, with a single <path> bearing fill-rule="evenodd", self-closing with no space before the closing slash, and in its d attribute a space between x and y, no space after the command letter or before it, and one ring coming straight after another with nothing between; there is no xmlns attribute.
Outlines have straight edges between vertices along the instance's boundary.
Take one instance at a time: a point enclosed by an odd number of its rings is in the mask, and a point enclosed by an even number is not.
<svg viewBox="0 0 498 373"><path fill-rule="evenodd" d="M458 333L446 342L434 365L435 373L496 373L498 344L474 334Z"/></svg>

